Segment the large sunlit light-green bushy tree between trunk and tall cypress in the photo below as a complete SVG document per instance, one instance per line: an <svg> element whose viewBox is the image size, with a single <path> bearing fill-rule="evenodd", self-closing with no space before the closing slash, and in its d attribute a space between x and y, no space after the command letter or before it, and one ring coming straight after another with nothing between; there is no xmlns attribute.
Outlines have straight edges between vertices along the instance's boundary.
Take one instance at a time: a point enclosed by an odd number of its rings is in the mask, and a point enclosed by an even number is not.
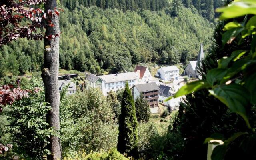
<svg viewBox="0 0 256 160"><path fill-rule="evenodd" d="M114 117L110 102L98 88L84 88L71 96L61 93L62 154L116 147L118 128Z"/></svg>

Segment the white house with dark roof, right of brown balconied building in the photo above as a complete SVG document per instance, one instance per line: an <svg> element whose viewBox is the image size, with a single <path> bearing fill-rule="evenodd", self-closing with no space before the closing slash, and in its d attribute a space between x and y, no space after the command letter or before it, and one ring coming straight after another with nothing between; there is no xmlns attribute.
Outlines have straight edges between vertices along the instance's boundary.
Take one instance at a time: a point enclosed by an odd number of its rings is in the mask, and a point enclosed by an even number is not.
<svg viewBox="0 0 256 160"><path fill-rule="evenodd" d="M178 84L172 84L172 86L159 85L159 102L170 106L172 108L178 108L180 102L182 101L182 97L172 98L168 101L166 100L168 97L173 96L178 91Z"/></svg>

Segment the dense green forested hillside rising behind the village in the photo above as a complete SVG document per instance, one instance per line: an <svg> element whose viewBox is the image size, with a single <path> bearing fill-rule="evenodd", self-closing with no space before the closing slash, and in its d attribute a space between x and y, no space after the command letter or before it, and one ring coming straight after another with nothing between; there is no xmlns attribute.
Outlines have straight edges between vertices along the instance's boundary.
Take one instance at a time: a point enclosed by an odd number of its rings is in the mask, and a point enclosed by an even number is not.
<svg viewBox="0 0 256 160"><path fill-rule="evenodd" d="M157 11L151 6L124 11L99 8L94 3L88 8L82 0L61 2L62 69L101 73L132 70L132 65L139 63L186 64L195 60L201 42L205 50L211 44L214 24L183 4L174 7L174 2L161 0ZM135 4L140 6L140 1ZM0 64L5 66L0 76L39 71L42 62L43 42L19 39L0 48Z"/></svg>

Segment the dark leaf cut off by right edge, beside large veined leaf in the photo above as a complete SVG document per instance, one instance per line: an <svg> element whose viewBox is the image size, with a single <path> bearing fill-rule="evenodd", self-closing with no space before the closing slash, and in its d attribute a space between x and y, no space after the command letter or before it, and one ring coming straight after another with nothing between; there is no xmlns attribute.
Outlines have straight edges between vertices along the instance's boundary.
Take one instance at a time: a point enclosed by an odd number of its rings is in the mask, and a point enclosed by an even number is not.
<svg viewBox="0 0 256 160"><path fill-rule="evenodd" d="M247 88L250 92L250 102L256 104L256 73L246 76L244 87Z"/></svg>

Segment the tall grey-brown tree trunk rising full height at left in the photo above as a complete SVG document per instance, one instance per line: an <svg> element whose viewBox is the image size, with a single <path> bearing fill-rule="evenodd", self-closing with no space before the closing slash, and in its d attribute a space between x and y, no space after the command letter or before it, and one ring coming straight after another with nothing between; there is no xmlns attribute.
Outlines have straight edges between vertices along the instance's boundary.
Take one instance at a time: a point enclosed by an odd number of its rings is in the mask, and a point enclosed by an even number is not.
<svg viewBox="0 0 256 160"><path fill-rule="evenodd" d="M52 17L47 14L47 22L50 20L54 25L46 25L45 35L60 34L59 18L54 10L57 8L56 0L47 0L44 4L45 13L52 10ZM46 115L46 122L49 127L53 127L57 132L60 130L60 94L58 92L58 70L59 70L59 36L48 39L44 38L44 69L42 71L42 78L44 81L45 101L50 104L52 110ZM60 138L57 136L50 136L50 144L48 149L51 154L47 155L48 160L60 160L61 145Z"/></svg>

